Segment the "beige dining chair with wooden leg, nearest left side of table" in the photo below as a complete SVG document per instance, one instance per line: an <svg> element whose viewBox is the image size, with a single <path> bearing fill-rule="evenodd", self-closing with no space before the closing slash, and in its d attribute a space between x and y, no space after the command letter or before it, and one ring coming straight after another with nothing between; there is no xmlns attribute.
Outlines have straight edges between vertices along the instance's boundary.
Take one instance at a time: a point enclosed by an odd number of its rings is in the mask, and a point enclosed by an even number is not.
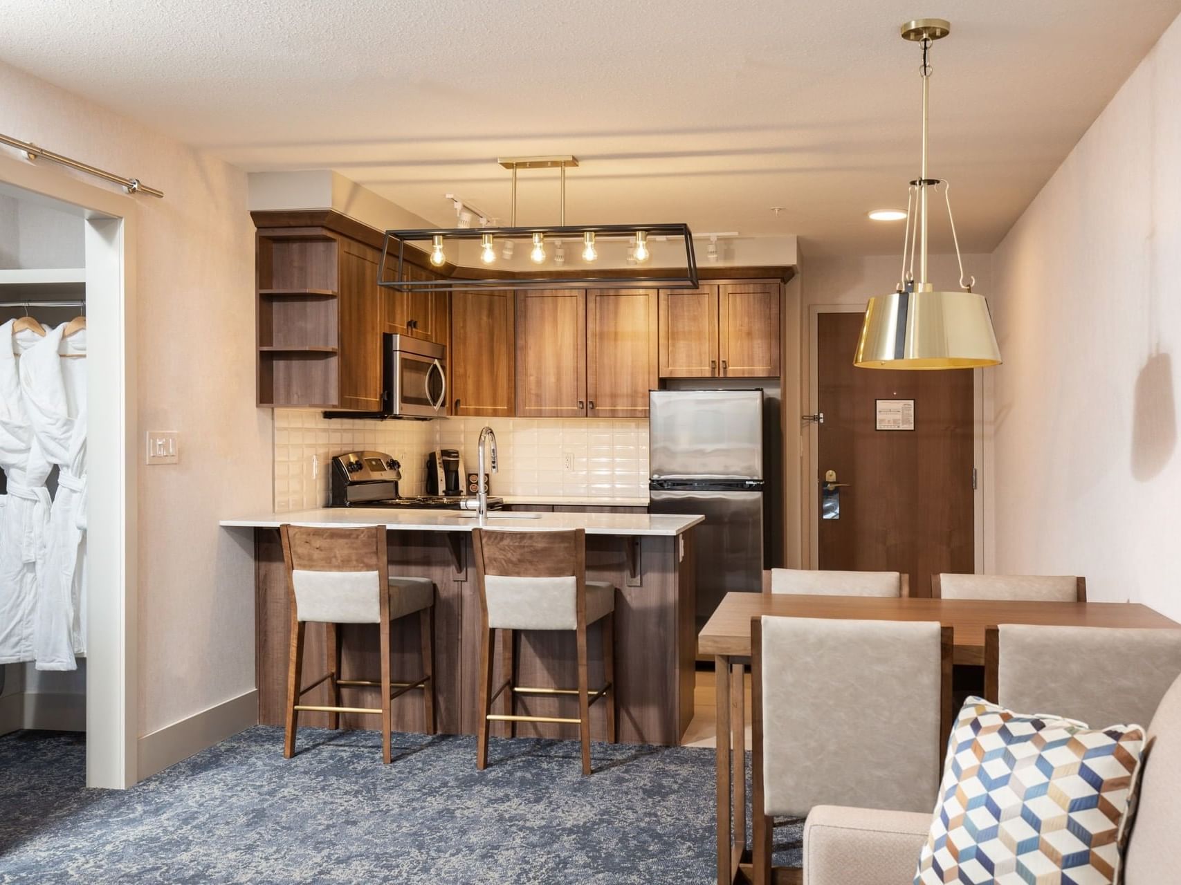
<svg viewBox="0 0 1181 885"><path fill-rule="evenodd" d="M952 628L755 618L751 669L757 885L771 877L772 817L826 804L929 815L951 727Z"/></svg>

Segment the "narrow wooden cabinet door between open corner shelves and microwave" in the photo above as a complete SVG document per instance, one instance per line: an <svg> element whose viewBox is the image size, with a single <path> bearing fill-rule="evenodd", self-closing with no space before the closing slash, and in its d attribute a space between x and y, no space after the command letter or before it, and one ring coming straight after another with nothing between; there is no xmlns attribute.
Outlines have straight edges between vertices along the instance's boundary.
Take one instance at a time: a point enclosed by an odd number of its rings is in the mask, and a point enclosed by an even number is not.
<svg viewBox="0 0 1181 885"><path fill-rule="evenodd" d="M340 408L381 406L381 293L376 249L340 241Z"/></svg>

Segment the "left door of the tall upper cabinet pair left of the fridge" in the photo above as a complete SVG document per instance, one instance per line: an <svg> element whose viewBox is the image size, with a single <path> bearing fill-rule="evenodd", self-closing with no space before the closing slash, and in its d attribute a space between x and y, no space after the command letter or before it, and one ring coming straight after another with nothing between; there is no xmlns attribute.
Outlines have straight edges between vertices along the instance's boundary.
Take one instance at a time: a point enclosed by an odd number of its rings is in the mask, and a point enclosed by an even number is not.
<svg viewBox="0 0 1181 885"><path fill-rule="evenodd" d="M587 413L587 327L583 289L516 294L517 415L579 418Z"/></svg>

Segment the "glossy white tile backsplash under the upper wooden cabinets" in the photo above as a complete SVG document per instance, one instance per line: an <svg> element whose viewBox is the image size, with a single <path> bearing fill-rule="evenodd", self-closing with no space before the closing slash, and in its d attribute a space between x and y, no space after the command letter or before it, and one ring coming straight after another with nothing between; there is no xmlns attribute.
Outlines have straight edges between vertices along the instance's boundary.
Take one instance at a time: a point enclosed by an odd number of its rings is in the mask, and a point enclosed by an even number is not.
<svg viewBox="0 0 1181 885"><path fill-rule="evenodd" d="M648 422L602 418L449 418L438 421L325 419L319 412L275 409L275 512L328 503L329 459L357 448L402 461L403 494L426 491L426 455L458 448L476 472L479 431L496 432L500 472L494 494L645 498ZM313 477L313 455L319 473ZM569 466L567 466L569 465Z"/></svg>

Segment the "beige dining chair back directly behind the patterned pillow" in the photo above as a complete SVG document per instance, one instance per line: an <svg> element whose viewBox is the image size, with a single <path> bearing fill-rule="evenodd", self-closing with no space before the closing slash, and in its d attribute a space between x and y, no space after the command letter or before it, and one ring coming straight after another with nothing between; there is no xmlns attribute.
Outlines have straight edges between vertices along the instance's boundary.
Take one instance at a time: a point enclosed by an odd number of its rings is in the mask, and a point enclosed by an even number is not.
<svg viewBox="0 0 1181 885"><path fill-rule="evenodd" d="M1181 676L1181 630L1001 624L984 660L985 696L1011 710L1144 725Z"/></svg>

